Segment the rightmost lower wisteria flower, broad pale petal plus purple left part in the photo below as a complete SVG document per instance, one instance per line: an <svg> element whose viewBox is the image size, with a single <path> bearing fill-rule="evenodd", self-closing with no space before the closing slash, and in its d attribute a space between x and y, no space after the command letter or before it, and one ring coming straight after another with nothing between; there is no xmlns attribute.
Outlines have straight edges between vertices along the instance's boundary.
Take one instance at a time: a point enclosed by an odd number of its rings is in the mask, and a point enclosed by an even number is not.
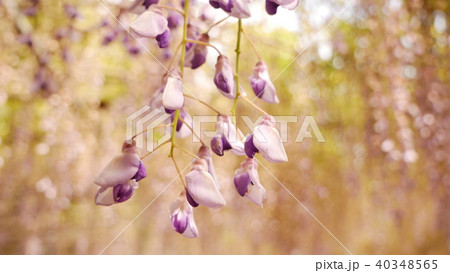
<svg viewBox="0 0 450 273"><path fill-rule="evenodd" d="M253 130L253 134L245 141L245 153L250 158L253 158L255 153L261 153L265 159L273 163L288 161L272 116L262 117L261 122Z"/></svg>

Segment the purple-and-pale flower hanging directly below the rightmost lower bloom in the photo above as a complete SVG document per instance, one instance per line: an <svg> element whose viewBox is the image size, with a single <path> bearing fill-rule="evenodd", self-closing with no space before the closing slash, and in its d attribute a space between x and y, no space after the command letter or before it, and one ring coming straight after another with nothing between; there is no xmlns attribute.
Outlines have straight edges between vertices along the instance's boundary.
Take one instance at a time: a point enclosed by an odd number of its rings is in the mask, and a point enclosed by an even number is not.
<svg viewBox="0 0 450 273"><path fill-rule="evenodd" d="M236 170L234 175L234 185L240 196L245 196L262 207L266 198L266 190L259 182L258 163L255 158L247 157L241 163L241 167Z"/></svg>

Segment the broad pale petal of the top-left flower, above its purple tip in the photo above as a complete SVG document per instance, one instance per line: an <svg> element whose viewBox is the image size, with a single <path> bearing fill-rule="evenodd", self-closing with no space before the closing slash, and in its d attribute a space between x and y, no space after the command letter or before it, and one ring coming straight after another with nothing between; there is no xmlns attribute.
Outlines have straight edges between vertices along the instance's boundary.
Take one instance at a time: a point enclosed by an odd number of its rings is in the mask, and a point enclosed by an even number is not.
<svg viewBox="0 0 450 273"><path fill-rule="evenodd" d="M146 38L156 38L167 29L166 18L154 10L145 11L130 24L133 33Z"/></svg>

